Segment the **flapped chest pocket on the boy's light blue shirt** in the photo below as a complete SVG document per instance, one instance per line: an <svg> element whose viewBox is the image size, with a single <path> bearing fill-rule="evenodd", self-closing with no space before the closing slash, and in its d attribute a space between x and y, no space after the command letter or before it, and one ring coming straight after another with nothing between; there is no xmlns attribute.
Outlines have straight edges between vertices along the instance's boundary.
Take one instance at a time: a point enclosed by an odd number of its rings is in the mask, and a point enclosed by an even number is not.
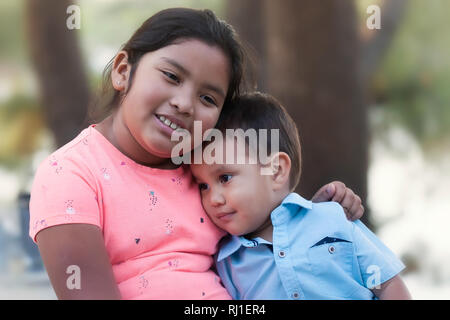
<svg viewBox="0 0 450 320"><path fill-rule="evenodd" d="M308 249L313 274L331 282L352 277L353 274L353 243L342 239L334 240L319 242Z"/></svg>

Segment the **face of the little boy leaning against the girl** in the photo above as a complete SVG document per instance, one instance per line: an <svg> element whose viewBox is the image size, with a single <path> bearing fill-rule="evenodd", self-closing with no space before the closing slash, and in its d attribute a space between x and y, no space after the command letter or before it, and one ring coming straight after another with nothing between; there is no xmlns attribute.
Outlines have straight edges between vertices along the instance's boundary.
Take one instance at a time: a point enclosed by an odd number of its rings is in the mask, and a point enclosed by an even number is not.
<svg viewBox="0 0 450 320"><path fill-rule="evenodd" d="M239 157L241 161L235 163L245 164L193 164L192 174L203 207L219 228L233 235L257 236L271 227L270 213L277 205L272 176L261 175L261 166L249 164L247 155L238 154L235 160Z"/></svg>

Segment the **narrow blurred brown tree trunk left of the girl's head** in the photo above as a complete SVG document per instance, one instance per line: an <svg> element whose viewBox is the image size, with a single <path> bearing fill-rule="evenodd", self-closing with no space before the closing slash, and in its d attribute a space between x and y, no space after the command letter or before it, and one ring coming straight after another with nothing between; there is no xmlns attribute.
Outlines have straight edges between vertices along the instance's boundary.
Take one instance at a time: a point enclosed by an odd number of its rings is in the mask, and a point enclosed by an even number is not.
<svg viewBox="0 0 450 320"><path fill-rule="evenodd" d="M68 0L27 0L26 22L31 58L40 85L48 127L57 147L82 129L89 85L78 45L78 30L69 30Z"/></svg>

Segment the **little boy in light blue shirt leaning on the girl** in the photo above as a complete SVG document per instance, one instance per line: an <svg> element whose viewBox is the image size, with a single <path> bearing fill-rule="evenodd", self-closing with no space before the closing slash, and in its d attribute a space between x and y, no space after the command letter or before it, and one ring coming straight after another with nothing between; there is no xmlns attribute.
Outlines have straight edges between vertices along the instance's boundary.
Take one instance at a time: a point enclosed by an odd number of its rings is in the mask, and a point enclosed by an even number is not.
<svg viewBox="0 0 450 320"><path fill-rule="evenodd" d="M228 136L214 148L223 161L191 166L206 212L231 234L216 267L232 298L410 298L398 275L404 265L369 229L348 221L336 202L312 203L292 192L301 171L298 131L273 97L251 93L227 106L217 129L238 128L278 129L278 150L268 132L258 149L270 155L263 163L249 142L236 152L236 138ZM272 174L263 174L267 168Z"/></svg>

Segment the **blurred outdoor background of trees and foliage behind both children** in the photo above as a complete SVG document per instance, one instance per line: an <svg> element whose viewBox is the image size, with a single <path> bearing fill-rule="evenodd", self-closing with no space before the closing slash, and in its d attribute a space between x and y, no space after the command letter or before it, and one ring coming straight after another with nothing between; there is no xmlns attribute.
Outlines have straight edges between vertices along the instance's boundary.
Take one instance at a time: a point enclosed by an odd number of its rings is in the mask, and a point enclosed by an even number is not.
<svg viewBox="0 0 450 320"><path fill-rule="evenodd" d="M343 181L406 264L413 298L449 299L447 0L0 1L0 299L56 299L28 238L36 167L81 131L121 45L179 6L212 9L248 43L250 79L299 126L297 191Z"/></svg>

